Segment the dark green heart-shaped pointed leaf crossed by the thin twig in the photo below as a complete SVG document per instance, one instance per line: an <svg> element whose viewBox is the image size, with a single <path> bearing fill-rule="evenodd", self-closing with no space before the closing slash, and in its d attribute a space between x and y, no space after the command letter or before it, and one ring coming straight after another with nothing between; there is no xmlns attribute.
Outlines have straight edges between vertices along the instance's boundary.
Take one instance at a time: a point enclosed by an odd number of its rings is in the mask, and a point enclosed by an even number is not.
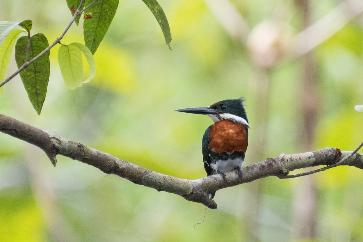
<svg viewBox="0 0 363 242"><path fill-rule="evenodd" d="M23 36L18 39L15 45L15 61L20 68L25 62L26 46L28 37ZM48 40L42 33L33 35L30 39L29 60L33 59L40 52L49 46ZM39 57L28 68L20 72L20 78L23 81L26 92L34 109L40 115L46 96L50 74L49 52Z"/></svg>

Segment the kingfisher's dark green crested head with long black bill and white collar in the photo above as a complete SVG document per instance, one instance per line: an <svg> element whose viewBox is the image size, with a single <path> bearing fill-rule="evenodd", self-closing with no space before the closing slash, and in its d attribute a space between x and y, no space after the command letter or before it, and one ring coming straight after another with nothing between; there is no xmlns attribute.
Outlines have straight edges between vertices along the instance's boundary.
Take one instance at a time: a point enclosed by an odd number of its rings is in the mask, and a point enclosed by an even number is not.
<svg viewBox="0 0 363 242"><path fill-rule="evenodd" d="M175 111L184 113L205 114L212 118L213 122L219 122L221 120L230 120L233 122L239 122L249 127L246 110L243 107L242 102L244 98L228 99L216 102L209 107L202 108L182 108Z"/></svg>

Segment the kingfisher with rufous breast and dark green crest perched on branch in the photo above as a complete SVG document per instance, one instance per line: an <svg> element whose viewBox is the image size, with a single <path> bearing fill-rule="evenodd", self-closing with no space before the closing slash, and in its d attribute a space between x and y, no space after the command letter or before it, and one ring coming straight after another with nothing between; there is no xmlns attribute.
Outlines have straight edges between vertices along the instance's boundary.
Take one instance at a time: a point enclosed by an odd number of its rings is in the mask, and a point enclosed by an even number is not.
<svg viewBox="0 0 363 242"><path fill-rule="evenodd" d="M244 98L216 102L208 107L183 108L175 111L209 116L214 124L203 135L202 153L207 176L220 174L227 181L225 172L236 169L242 180L241 166L248 146L248 119L243 106ZM215 192L211 194L213 198Z"/></svg>

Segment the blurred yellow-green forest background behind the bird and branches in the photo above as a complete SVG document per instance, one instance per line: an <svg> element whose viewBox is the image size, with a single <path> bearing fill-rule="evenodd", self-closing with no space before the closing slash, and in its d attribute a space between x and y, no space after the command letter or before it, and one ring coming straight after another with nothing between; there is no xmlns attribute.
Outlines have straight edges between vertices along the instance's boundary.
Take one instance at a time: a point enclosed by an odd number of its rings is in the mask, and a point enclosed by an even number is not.
<svg viewBox="0 0 363 242"><path fill-rule="evenodd" d="M19 76L0 112L126 161L186 179L205 176L201 138L212 121L174 112L245 97L245 165L363 140L360 0L160 0L170 51L142 1L120 1L95 53L93 81L68 90L50 51L41 115ZM52 42L65 1L0 0L0 20L33 20ZM81 20L82 21L82 20ZM83 43L82 25L62 43ZM7 76L15 68L12 59ZM217 210L135 185L0 134L0 241L363 241L363 173L338 167L217 191Z"/></svg>

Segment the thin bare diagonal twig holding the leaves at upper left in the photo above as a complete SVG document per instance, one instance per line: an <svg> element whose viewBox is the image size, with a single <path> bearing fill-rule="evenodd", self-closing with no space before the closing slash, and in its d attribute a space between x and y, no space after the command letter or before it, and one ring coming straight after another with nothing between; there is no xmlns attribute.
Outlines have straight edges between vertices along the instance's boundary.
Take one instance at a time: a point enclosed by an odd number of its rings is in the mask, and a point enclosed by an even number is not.
<svg viewBox="0 0 363 242"><path fill-rule="evenodd" d="M40 52L37 56L35 56L33 59L26 61L22 66L20 66L19 69L17 69L13 74L11 74L8 78L6 78L3 82L0 83L0 86L3 86L5 83L7 83L8 81L10 81L13 77L15 77L17 74L19 74L22 70L28 68L28 66L30 64L32 64L34 61L36 61L39 57L41 57L42 55L44 55L46 52L48 52L51 48L54 47L54 45L59 44L61 42L61 39L63 38L63 36L66 34L66 32L68 31L68 29L70 28L70 26L73 24L74 20L76 20L76 17L83 12L85 9L88 9L89 7L91 7L91 5L93 5L94 3L96 3L98 0L94 0L90 5L88 5L87 7L85 7L82 11L82 5L84 4L85 0L82 0L81 3L79 4L76 12L74 12L74 15L72 17L72 20L69 22L69 24L67 25L67 27L65 28L65 30L62 32L62 34L53 41L52 44L50 44L47 48L44 49L44 51Z"/></svg>

